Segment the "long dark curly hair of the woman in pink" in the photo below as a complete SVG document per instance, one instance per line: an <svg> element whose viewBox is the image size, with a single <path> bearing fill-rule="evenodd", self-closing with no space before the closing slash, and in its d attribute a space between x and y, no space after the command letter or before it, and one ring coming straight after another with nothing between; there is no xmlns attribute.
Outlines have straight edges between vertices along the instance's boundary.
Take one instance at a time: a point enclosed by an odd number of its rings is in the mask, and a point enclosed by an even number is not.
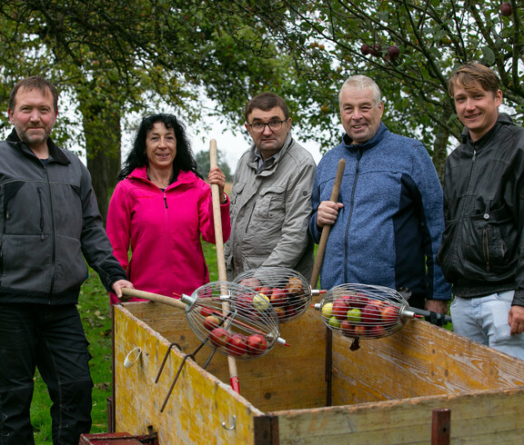
<svg viewBox="0 0 524 445"><path fill-rule="evenodd" d="M184 124L178 122L176 116L173 114L164 113L152 114L142 119L138 130L136 130L133 148L129 154L127 154L122 170L118 173L118 179L126 179L126 177L136 168L148 164L146 155L146 135L157 122L162 122L166 125L166 128L172 128L175 131L176 156L173 161L173 176L171 177L171 183L176 181L180 171L196 173L199 178L203 179L203 176L196 170L196 161L193 156L193 151L191 150L191 143L189 143L189 139L186 136L186 127Z"/></svg>

